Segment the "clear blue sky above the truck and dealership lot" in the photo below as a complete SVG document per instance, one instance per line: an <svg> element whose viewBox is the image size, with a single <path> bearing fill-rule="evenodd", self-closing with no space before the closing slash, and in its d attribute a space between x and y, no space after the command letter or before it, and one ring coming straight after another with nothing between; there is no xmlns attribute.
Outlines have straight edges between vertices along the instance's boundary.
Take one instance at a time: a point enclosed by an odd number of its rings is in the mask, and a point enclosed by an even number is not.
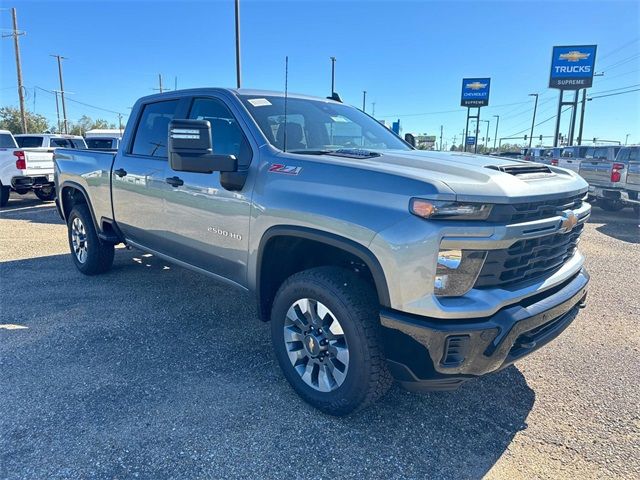
<svg viewBox="0 0 640 480"><path fill-rule="evenodd" d="M141 96L158 88L235 87L234 2L0 0L0 29L15 7L27 108L56 121L56 60L63 61L70 120L86 114L126 120ZM241 0L242 86L326 96L331 61L342 99L403 132L459 143L466 109L464 77L490 77L481 119L493 139L553 135L558 91L548 88L554 45L598 45L584 138L640 143L640 2L637 1L259 1ZM11 38L0 42L0 106L17 105ZM623 88L627 87L627 88ZM44 89L44 90L43 90ZM81 102L81 103L78 103ZM373 103L375 102L375 107ZM83 105L86 104L86 105ZM87 106L87 105L91 105ZM99 110L93 107L100 107ZM375 108L375 112L373 109ZM546 120L546 121L545 121ZM566 133L569 115L563 116ZM481 136L487 124L481 124ZM493 141L493 140L492 140ZM545 140L550 144L551 139Z"/></svg>

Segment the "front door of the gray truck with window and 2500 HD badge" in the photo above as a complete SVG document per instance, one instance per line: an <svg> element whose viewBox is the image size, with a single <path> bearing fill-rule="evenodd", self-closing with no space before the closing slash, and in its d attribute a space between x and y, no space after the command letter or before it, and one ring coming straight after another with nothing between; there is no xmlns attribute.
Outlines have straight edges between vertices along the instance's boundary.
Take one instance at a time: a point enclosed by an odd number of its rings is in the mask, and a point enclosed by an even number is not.
<svg viewBox="0 0 640 480"><path fill-rule="evenodd" d="M229 107L219 98L194 98L189 119L209 120L213 153L235 155L248 169L252 149ZM166 197L167 248L178 260L246 286L251 184L225 189L220 172L178 172L167 165L167 177L182 184ZM180 183L180 182L177 182Z"/></svg>

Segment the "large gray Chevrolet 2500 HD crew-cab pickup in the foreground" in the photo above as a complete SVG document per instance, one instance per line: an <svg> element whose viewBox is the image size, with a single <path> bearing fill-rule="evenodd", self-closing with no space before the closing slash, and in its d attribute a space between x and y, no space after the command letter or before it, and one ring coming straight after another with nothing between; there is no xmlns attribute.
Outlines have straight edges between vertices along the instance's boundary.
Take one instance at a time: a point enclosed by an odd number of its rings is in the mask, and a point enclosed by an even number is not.
<svg viewBox="0 0 640 480"><path fill-rule="evenodd" d="M284 376L334 415L505 368L585 305L578 175L415 150L331 99L153 95L116 154L55 165L82 273L125 243L254 292Z"/></svg>

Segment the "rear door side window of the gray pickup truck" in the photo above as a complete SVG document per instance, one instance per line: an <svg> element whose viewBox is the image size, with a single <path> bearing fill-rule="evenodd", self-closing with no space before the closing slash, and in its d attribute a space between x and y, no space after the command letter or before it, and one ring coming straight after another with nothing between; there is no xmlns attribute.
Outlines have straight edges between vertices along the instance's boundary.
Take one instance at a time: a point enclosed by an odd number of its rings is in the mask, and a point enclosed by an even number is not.
<svg viewBox="0 0 640 480"><path fill-rule="evenodd" d="M169 122L178 108L178 100L149 103L144 106L133 139L131 153L147 157L167 158Z"/></svg>

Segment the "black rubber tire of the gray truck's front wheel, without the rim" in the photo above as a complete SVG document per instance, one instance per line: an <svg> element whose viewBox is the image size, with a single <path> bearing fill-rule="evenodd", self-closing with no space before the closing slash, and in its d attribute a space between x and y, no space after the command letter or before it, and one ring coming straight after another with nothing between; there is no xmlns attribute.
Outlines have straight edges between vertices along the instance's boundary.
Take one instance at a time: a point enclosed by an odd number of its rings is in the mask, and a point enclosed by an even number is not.
<svg viewBox="0 0 640 480"><path fill-rule="evenodd" d="M285 317L289 308L303 298L328 307L340 322L348 343L346 378L330 392L320 392L305 383L287 354ZM271 339L285 378L307 403L330 415L343 416L367 407L387 392L393 380L380 339L379 308L374 289L343 268L305 270L282 284L271 311Z"/></svg>

